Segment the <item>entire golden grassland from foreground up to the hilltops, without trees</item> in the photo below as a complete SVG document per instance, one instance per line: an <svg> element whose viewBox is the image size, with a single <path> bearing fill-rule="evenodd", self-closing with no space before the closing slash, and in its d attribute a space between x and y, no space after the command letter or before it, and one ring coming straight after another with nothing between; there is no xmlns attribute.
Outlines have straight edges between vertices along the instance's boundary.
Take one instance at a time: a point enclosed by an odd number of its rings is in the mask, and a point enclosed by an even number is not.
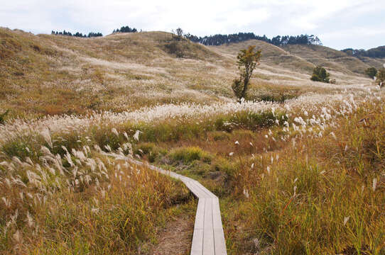
<svg viewBox="0 0 385 255"><path fill-rule="evenodd" d="M1 254L154 254L197 203L129 157L215 193L228 254L385 254L385 94L363 62L337 56L337 84L321 84L310 58L337 54L325 47L5 28L0 40ZM264 57L239 104L248 44Z"/></svg>

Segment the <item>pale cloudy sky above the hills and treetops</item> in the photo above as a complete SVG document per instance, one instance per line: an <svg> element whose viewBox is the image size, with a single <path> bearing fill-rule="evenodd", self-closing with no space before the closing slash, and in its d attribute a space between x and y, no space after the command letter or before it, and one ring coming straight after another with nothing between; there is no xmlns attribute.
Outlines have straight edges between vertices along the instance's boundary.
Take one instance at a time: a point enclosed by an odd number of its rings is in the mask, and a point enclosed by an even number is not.
<svg viewBox="0 0 385 255"><path fill-rule="evenodd" d="M385 0L12 0L0 4L0 26L31 33L175 30L193 35L254 32L318 35L342 50L385 45Z"/></svg>

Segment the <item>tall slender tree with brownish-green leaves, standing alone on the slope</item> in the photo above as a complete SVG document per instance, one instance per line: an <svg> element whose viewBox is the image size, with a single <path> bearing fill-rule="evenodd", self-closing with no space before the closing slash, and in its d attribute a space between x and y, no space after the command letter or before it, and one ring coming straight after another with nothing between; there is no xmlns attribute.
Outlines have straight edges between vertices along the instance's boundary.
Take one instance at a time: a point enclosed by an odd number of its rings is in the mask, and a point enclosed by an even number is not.
<svg viewBox="0 0 385 255"><path fill-rule="evenodd" d="M242 103L242 98L246 98L251 74L253 74L255 67L261 60L261 50L254 51L254 49L255 45L251 45L247 49L241 50L237 56L240 74L238 79L234 79L232 90L239 103Z"/></svg>

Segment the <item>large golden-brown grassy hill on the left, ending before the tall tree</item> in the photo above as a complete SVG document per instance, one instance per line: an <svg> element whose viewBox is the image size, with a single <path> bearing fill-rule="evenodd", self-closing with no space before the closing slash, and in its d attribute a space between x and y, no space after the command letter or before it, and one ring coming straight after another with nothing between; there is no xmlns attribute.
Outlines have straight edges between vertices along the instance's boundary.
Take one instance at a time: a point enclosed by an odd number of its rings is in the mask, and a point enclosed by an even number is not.
<svg viewBox="0 0 385 255"><path fill-rule="evenodd" d="M164 32L74 38L0 28L0 41L0 108L19 115L215 101L217 75L229 66L207 47ZM199 92L207 88L210 94Z"/></svg>

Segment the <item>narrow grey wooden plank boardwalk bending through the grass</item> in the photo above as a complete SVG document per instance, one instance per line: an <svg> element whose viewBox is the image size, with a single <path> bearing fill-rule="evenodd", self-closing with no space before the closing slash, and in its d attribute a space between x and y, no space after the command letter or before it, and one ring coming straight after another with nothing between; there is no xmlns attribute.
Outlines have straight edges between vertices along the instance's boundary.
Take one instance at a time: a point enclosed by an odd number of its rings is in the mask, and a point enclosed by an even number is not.
<svg viewBox="0 0 385 255"><path fill-rule="evenodd" d="M135 159L130 159L130 161L134 164L146 165ZM217 196L193 179L175 174L172 171L160 169L156 166L148 165L148 168L183 181L185 186L199 199L190 254L227 255Z"/></svg>

